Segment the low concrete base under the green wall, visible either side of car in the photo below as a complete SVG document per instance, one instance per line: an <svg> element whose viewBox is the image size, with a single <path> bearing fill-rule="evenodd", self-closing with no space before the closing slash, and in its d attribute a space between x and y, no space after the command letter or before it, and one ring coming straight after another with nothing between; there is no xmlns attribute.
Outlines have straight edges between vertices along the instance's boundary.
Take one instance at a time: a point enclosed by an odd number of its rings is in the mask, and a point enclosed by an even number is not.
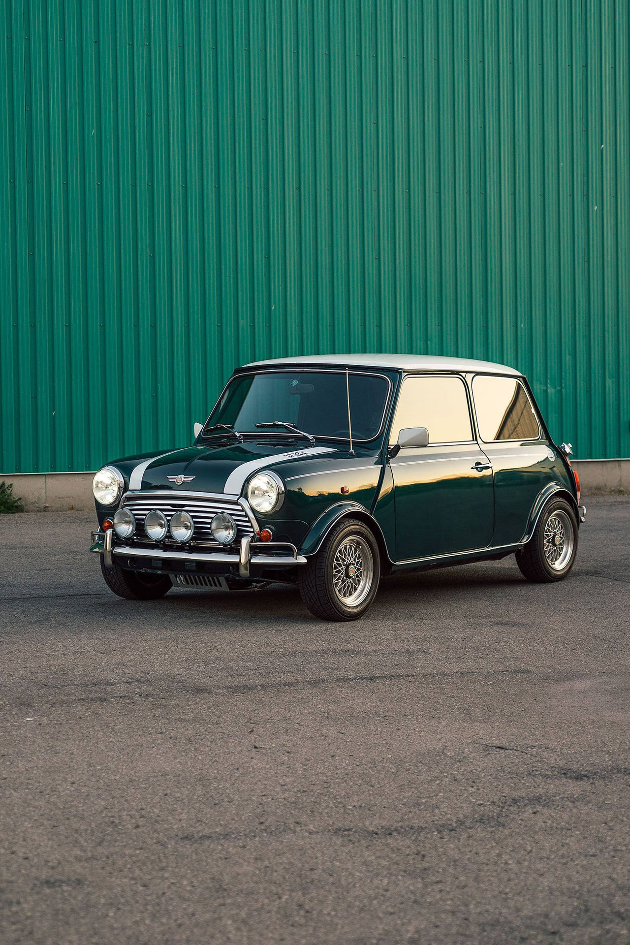
<svg viewBox="0 0 630 945"><path fill-rule="evenodd" d="M630 495L630 459L576 459L573 467L585 499L588 494ZM93 478L94 472L0 472L0 482L12 484L13 494L22 499L27 512L92 510Z"/></svg>

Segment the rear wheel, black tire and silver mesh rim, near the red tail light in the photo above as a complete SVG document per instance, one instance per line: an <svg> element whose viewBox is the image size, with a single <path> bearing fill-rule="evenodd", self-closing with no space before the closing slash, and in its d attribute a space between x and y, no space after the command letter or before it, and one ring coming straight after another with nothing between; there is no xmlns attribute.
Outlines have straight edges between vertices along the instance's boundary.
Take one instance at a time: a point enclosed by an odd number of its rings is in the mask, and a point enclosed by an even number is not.
<svg viewBox="0 0 630 945"><path fill-rule="evenodd" d="M557 529L555 533L554 529ZM516 553L520 573L537 584L561 581L573 567L577 538L578 525L573 508L565 499L550 499L540 514L531 539ZM558 558L553 563L556 553Z"/></svg>

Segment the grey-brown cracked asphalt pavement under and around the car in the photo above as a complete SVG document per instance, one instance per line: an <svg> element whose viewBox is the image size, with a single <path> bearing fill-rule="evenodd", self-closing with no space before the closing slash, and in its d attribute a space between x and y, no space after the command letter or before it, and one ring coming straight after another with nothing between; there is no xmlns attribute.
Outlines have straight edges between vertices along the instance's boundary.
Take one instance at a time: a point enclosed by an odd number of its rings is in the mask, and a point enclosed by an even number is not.
<svg viewBox="0 0 630 945"><path fill-rule="evenodd" d="M558 585L113 596L93 516L0 516L0 941L630 939L630 498Z"/></svg>

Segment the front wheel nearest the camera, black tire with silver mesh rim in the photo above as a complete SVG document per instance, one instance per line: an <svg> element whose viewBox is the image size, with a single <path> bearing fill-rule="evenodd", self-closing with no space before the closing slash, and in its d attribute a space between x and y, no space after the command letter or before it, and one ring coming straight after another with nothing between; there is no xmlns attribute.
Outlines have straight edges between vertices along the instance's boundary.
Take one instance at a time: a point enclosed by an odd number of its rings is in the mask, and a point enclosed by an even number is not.
<svg viewBox="0 0 630 945"><path fill-rule="evenodd" d="M352 541L354 540L354 541ZM346 559L343 572L342 558ZM350 569L354 570L350 570ZM346 603L338 588L343 582L349 591L359 572L356 593L346 594ZM356 519L344 519L332 526L319 551L299 569L299 593L315 617L324 620L356 620L363 616L379 588L381 555L373 533ZM336 579L336 584L335 584ZM352 603L352 596L356 603Z"/></svg>

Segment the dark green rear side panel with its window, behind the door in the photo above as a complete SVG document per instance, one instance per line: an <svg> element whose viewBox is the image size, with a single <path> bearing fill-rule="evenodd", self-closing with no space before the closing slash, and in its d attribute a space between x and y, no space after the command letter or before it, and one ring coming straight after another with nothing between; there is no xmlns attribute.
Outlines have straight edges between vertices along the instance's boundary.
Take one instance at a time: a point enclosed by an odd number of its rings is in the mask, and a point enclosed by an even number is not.
<svg viewBox="0 0 630 945"><path fill-rule="evenodd" d="M480 445L494 471L492 544L514 544L536 498L553 481L555 455L518 377L476 374L471 387Z"/></svg>

